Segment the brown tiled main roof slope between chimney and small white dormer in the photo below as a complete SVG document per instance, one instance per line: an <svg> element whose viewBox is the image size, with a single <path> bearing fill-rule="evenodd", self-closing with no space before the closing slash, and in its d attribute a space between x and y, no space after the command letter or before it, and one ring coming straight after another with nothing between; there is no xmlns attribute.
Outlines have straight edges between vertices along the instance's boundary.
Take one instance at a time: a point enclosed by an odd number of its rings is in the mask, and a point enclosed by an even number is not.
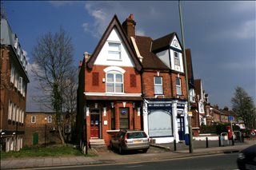
<svg viewBox="0 0 256 170"><path fill-rule="evenodd" d="M136 36L136 44L139 53L143 57L143 69L169 69L156 54L151 52L152 39L149 37Z"/></svg>

